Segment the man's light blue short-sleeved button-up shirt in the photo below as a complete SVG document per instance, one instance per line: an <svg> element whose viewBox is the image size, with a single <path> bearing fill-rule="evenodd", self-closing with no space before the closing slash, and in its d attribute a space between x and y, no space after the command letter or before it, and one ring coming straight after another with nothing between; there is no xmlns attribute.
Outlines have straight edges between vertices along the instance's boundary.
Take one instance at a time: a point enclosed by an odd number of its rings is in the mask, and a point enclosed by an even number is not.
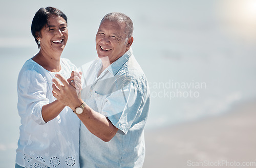
<svg viewBox="0 0 256 168"><path fill-rule="evenodd" d="M103 142L81 123L80 167L142 167L145 157L144 126L150 106L146 77L132 49L106 68L95 60L84 76L82 98L119 130Z"/></svg>

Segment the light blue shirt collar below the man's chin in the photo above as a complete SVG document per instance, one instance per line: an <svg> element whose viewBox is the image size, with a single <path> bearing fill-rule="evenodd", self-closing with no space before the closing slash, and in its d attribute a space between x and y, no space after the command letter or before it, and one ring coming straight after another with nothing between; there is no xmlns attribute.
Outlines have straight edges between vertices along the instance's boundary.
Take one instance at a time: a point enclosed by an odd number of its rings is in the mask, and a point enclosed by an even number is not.
<svg viewBox="0 0 256 168"><path fill-rule="evenodd" d="M130 48L118 60L116 60L106 69L108 69L109 72L111 72L113 75L116 75L116 73L121 69L123 64L129 60L132 54L133 54L133 50L132 48Z"/></svg>

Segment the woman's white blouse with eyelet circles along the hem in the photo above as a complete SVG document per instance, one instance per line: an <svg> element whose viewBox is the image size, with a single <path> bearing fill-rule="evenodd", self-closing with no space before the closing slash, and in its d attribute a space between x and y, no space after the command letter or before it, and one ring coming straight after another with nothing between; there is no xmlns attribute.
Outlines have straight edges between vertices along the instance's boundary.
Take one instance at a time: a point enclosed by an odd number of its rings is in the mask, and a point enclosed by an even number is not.
<svg viewBox="0 0 256 168"><path fill-rule="evenodd" d="M77 68L61 59L56 72L66 79ZM79 167L80 120L65 107L53 120L42 119L41 108L56 100L50 72L29 59L18 75L18 114L21 118L16 163L24 167Z"/></svg>

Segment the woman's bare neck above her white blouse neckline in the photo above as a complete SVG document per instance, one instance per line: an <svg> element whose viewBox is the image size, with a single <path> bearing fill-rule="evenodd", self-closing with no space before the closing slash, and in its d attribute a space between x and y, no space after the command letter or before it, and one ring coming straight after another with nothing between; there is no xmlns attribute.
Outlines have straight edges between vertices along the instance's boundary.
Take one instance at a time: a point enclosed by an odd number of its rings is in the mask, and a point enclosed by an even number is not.
<svg viewBox="0 0 256 168"><path fill-rule="evenodd" d="M32 58L37 64L42 66L48 71L59 72L60 66L60 54L48 54L40 49L40 51Z"/></svg>

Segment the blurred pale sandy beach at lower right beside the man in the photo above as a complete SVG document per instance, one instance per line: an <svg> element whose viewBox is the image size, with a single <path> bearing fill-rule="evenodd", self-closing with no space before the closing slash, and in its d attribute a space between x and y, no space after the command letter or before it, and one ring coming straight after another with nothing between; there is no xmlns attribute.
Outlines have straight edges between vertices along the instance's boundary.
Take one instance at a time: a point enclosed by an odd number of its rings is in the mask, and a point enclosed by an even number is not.
<svg viewBox="0 0 256 168"><path fill-rule="evenodd" d="M256 167L255 110L247 102L222 116L145 130L143 167Z"/></svg>

